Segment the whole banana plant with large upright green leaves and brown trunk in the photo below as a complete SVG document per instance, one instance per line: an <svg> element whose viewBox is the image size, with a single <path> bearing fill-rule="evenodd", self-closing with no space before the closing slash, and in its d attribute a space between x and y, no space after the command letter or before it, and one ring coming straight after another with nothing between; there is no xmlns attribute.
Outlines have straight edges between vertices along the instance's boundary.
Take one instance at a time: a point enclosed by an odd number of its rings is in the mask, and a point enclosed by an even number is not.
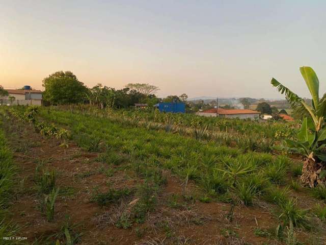
<svg viewBox="0 0 326 245"><path fill-rule="evenodd" d="M301 74L306 81L312 96L312 105L308 105L304 99L283 86L276 79L271 84L285 94L286 100L292 108L300 109L307 117L303 119L302 127L296 136L296 140L286 139L288 150L305 156L301 180L305 185L314 187L326 182L322 171L325 171L326 152L326 93L319 98L319 81L315 71L308 66L300 67Z"/></svg>

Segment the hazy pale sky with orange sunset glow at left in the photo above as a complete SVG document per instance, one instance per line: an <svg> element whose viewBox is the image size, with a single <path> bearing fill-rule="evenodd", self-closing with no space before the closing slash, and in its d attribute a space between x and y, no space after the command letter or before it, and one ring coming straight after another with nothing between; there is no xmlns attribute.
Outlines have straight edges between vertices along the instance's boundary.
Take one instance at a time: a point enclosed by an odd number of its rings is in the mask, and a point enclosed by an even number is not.
<svg viewBox="0 0 326 245"><path fill-rule="evenodd" d="M159 96L308 96L298 68L326 90L326 1L3 1L0 84L71 70L87 86L150 83ZM320 92L320 93L321 93Z"/></svg>

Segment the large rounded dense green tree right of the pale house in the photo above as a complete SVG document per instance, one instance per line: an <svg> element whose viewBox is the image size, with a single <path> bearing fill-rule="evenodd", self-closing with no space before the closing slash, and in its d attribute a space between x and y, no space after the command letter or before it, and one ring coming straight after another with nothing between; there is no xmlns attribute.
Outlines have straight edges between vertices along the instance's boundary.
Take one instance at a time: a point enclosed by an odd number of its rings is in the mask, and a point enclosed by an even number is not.
<svg viewBox="0 0 326 245"><path fill-rule="evenodd" d="M88 91L71 71L57 71L43 79L44 100L51 104L71 104L85 101Z"/></svg>

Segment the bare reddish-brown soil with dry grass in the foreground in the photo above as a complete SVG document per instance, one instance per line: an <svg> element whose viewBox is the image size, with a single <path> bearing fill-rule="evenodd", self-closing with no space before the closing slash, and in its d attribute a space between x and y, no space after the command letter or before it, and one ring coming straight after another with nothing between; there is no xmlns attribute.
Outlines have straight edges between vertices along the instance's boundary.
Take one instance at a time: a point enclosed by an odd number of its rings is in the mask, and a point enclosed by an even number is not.
<svg viewBox="0 0 326 245"><path fill-rule="evenodd" d="M116 228L110 223L115 213L131 205L129 197L119 205L101 207L91 202L94 187L101 191L109 187L134 187L141 180L133 178L127 168L119 166L113 176L100 169L105 164L95 161L97 153L89 153L69 142L63 149L58 141L46 138L28 124L15 121L5 124L5 132L14 151L18 168L17 186L10 205L14 222L21 228L19 236L28 237L28 243L46 244L55 241L65 223L80 236L78 244L283 244L274 238L255 235L255 229L273 230L279 220L273 214L275 207L258 203L255 207L237 206L230 222L231 204L203 203L182 198L182 181L165 171L168 182L159 194L158 203L148 214L144 224L133 224L129 229ZM35 184L35 169L43 165L56 169L57 186L61 189L55 219L47 222L40 210L40 197ZM187 193L196 196L200 189L189 183ZM171 207L169 199L174 195L178 205ZM305 193L301 194L305 197ZM302 202L303 206L310 203ZM298 237L308 238L305 231Z"/></svg>

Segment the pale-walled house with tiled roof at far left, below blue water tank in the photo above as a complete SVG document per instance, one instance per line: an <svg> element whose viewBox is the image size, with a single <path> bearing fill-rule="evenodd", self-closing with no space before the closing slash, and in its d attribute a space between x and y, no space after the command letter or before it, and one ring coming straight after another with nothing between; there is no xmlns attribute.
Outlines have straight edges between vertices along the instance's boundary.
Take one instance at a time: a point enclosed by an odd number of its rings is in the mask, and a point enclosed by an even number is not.
<svg viewBox="0 0 326 245"><path fill-rule="evenodd" d="M42 105L41 90L24 90L24 89L5 89L9 93L8 96L0 97L1 105ZM14 97L15 100L10 101L9 97Z"/></svg>

